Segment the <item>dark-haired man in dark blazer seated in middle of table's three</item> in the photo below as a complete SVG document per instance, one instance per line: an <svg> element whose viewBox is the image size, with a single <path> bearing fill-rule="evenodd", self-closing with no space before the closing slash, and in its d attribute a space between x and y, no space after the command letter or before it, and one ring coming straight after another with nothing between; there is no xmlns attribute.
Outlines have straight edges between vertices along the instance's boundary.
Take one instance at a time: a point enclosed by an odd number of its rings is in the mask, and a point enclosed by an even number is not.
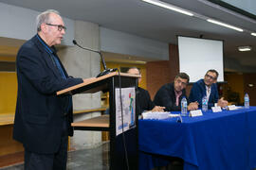
<svg viewBox="0 0 256 170"><path fill-rule="evenodd" d="M165 107L166 111L180 110L181 99L187 98L185 89L189 81L190 76L186 73L179 73L175 76L174 83L165 84L158 90L155 94L155 105ZM197 108L197 102L190 103L188 106L188 110L197 110Z"/></svg>

